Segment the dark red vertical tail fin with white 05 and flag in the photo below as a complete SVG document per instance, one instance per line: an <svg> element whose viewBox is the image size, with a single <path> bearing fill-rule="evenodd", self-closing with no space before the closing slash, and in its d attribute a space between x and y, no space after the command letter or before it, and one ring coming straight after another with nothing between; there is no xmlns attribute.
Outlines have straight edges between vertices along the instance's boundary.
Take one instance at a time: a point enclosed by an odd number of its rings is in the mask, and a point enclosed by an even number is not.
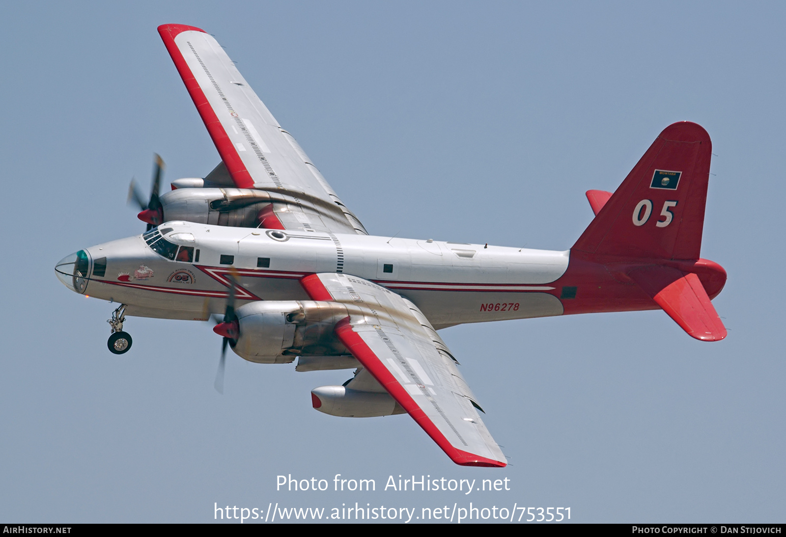
<svg viewBox="0 0 786 537"><path fill-rule="evenodd" d="M698 259L711 155L710 135L701 126L667 126L571 250Z"/></svg>

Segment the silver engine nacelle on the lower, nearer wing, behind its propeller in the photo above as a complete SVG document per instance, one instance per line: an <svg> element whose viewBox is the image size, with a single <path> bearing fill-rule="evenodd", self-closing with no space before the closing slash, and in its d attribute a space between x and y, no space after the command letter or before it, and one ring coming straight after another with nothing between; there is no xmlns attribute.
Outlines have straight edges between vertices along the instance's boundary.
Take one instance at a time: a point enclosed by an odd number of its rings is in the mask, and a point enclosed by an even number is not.
<svg viewBox="0 0 786 537"><path fill-rule="evenodd" d="M346 306L320 301L256 301L235 312L240 335L233 351L256 363L290 363L296 356L348 355L333 328Z"/></svg>

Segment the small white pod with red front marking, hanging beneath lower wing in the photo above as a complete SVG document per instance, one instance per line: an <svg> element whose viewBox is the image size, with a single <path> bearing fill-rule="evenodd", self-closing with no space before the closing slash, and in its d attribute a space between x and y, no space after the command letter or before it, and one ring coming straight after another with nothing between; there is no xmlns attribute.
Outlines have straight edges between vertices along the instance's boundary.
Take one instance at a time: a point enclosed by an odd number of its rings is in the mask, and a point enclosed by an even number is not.
<svg viewBox="0 0 786 537"><path fill-rule="evenodd" d="M312 389L311 404L320 412L345 418L373 418L406 412L389 393L358 392L344 386Z"/></svg>

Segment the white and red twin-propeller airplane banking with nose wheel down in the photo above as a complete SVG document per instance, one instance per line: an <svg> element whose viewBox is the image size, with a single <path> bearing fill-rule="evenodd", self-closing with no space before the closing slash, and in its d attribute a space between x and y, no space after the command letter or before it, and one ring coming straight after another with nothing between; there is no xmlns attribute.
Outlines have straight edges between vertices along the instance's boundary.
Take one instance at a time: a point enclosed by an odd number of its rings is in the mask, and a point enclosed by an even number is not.
<svg viewBox="0 0 786 537"><path fill-rule="evenodd" d="M707 131L667 126L569 250L373 236L215 38L164 24L164 45L222 162L158 194L145 233L79 250L55 271L71 290L119 304L108 348L126 353L126 316L208 320L255 363L354 369L311 391L325 414L409 414L451 460L504 467L483 407L438 331L461 323L663 309L693 338L726 330L711 298L725 270L700 257L711 162Z"/></svg>

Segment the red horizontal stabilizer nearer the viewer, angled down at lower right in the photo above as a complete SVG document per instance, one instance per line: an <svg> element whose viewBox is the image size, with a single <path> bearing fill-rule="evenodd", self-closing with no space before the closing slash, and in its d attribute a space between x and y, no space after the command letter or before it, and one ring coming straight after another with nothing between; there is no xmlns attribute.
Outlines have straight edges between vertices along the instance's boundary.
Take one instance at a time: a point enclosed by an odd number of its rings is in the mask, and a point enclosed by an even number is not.
<svg viewBox="0 0 786 537"><path fill-rule="evenodd" d="M726 337L718 312L696 274L653 266L636 268L628 276L692 338L718 342Z"/></svg>

